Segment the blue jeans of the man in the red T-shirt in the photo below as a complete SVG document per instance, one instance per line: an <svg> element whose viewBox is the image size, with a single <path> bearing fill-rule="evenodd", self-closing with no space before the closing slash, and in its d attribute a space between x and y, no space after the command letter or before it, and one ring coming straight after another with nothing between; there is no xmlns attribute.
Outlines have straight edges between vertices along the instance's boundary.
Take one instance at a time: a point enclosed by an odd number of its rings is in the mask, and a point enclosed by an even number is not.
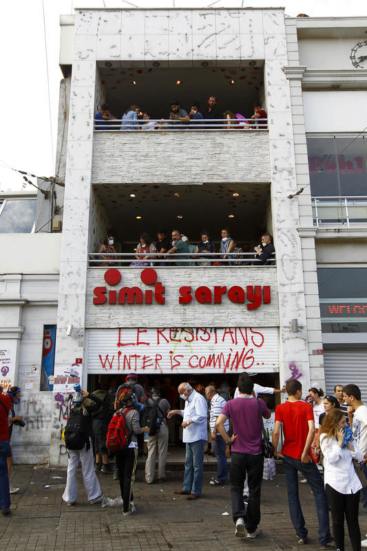
<svg viewBox="0 0 367 551"><path fill-rule="evenodd" d="M315 499L317 519L319 521L319 544L325 545L331 541L331 533L328 521L328 502L324 490L324 481L316 464L302 463L300 459L294 459L289 455L283 456L284 473L286 475L286 490L288 492L289 514L295 528L295 533L300 539L305 539L308 530L305 527L300 497L298 495L298 476L300 471L307 480Z"/></svg>

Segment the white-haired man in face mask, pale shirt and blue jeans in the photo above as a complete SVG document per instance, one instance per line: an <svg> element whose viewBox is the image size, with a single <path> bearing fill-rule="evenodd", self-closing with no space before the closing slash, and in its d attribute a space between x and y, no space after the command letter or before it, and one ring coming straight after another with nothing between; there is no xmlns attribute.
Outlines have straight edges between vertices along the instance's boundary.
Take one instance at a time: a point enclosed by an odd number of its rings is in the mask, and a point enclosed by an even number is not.
<svg viewBox="0 0 367 551"><path fill-rule="evenodd" d="M182 415L182 441L186 444L185 475L182 490L175 494L187 495L186 499L198 499L202 492L202 465L204 445L207 441L207 401L193 390L189 383L178 386L180 398L185 400L185 409L169 411L168 418Z"/></svg>

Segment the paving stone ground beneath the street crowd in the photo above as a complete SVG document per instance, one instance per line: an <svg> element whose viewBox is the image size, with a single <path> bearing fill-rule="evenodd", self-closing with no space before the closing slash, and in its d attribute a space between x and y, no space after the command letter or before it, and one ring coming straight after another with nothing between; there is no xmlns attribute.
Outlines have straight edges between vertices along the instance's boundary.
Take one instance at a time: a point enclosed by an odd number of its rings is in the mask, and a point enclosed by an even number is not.
<svg viewBox="0 0 367 551"><path fill-rule="evenodd" d="M18 465L12 468L12 514L0 515L1 551L231 551L246 548L291 550L299 547L291 526L284 475L263 481L262 534L257 539L234 536L229 485L210 486L214 472L204 473L204 492L187 501L173 491L182 484L182 472L167 472L164 484L147 485L144 471L137 471L134 501L137 512L123 517L122 507L91 506L83 490L81 470L77 478L78 501L72 508L61 500L65 470ZM118 497L118 481L98 475L106 497ZM48 487L49 486L49 487ZM300 498L309 543L307 551L319 551L313 495L300 484ZM229 515L223 515L228 512ZM367 514L359 513L361 533L367 532ZM348 533L348 532L346 532ZM346 551L351 550L346 537Z"/></svg>

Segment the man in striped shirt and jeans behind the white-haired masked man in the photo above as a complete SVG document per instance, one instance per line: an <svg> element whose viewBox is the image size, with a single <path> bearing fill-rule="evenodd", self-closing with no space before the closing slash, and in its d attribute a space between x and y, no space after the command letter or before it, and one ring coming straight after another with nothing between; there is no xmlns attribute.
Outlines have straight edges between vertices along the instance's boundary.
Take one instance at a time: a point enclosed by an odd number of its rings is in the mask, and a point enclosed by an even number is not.
<svg viewBox="0 0 367 551"><path fill-rule="evenodd" d="M217 476L216 478L212 478L209 484L211 484L211 486L220 486L221 484L226 484L227 482L228 466L226 457L226 443L224 442L224 439L220 436L220 433L218 433L218 430L216 430L215 427L216 420L220 413L222 413L222 409L227 404L227 402L224 398L220 397L216 387L213 385L209 385L207 386L207 388L205 388L205 395L207 399L210 400L209 425L211 432L211 444L213 446L213 450L218 461ZM224 428L225 430L227 430L228 433L228 419L224 423Z"/></svg>

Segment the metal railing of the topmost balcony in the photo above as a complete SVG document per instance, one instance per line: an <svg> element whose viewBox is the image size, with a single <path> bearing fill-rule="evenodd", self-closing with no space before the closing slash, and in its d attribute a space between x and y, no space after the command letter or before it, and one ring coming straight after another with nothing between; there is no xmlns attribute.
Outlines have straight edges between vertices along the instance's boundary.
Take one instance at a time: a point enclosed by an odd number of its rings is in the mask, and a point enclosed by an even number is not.
<svg viewBox="0 0 367 551"><path fill-rule="evenodd" d="M147 123L153 123L151 125ZM267 130L267 118L198 118L189 123L171 121L170 118L150 118L148 121L123 121L115 118L112 121L94 119L96 132L125 130Z"/></svg>

